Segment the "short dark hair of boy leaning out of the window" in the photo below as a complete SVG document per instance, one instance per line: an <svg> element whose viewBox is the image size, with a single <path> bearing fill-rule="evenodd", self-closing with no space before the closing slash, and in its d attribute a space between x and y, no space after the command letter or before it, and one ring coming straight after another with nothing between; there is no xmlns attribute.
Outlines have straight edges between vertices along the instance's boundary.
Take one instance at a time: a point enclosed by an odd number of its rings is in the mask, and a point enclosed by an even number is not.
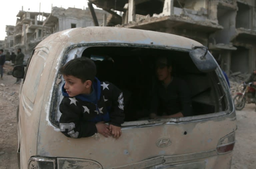
<svg viewBox="0 0 256 169"><path fill-rule="evenodd" d="M70 60L60 68L62 75L74 76L81 79L82 83L87 80L94 81L97 70L95 63L89 58L76 58Z"/></svg>

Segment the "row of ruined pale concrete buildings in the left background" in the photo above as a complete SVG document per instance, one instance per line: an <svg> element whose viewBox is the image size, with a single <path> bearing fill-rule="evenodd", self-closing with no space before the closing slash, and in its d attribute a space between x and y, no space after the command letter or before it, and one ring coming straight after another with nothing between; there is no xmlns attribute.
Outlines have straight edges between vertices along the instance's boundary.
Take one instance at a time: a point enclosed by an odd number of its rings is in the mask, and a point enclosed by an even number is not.
<svg viewBox="0 0 256 169"><path fill-rule="evenodd" d="M103 23L106 11L96 9L99 23ZM50 34L76 27L93 26L93 18L89 8L52 7L51 13L21 11L17 14L16 25L6 25L4 42L5 53L15 52L21 48L25 60L31 55L35 46Z"/></svg>

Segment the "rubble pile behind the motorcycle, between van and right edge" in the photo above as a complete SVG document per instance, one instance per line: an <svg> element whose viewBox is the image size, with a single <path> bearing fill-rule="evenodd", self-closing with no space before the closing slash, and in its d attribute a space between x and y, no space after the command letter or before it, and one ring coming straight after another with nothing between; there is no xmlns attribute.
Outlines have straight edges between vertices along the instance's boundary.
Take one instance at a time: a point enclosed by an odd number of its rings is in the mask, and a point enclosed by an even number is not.
<svg viewBox="0 0 256 169"><path fill-rule="evenodd" d="M251 74L241 72L234 72L229 75L230 92L232 96L235 96L237 92L241 92L241 88L239 86L248 80L250 76Z"/></svg>

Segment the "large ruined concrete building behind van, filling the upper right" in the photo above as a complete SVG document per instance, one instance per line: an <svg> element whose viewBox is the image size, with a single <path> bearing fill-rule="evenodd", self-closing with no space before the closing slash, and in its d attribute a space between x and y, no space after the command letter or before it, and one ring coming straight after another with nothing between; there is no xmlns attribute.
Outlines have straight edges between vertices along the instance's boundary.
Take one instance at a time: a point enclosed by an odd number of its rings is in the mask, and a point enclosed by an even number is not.
<svg viewBox="0 0 256 169"><path fill-rule="evenodd" d="M115 26L172 33L202 43L221 60L221 68L228 75L255 69L255 0L90 2L106 11L121 11L122 16L113 14L118 18Z"/></svg>

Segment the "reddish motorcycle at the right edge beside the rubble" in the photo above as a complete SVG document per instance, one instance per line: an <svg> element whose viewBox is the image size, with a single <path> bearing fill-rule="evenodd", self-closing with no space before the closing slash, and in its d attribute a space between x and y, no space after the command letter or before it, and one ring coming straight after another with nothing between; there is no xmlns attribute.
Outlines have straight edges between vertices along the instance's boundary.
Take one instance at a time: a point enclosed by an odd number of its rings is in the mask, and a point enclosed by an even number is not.
<svg viewBox="0 0 256 169"><path fill-rule="evenodd" d="M243 83L241 86L240 93L236 93L236 96L233 98L234 105L236 110L242 110L245 106L245 103L255 103L255 89L251 87L252 83Z"/></svg>

